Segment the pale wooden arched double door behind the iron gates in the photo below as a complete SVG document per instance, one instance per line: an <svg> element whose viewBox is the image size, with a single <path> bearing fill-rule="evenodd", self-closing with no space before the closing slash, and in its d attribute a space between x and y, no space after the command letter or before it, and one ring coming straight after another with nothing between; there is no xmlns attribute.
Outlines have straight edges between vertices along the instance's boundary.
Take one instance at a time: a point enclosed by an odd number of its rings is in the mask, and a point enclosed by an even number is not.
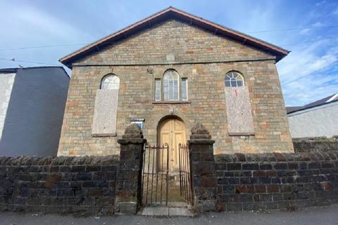
<svg viewBox="0 0 338 225"><path fill-rule="evenodd" d="M165 162L168 155L169 172L179 172L180 162L178 146L179 144L185 144L186 142L187 139L185 136L185 124L182 120L179 118L168 118L163 120L158 126L158 143L161 146L163 146L165 143L168 143L169 153L167 154L162 152L159 155L159 157L163 159L158 160L158 162L160 162L159 168L161 168L161 163Z"/></svg>

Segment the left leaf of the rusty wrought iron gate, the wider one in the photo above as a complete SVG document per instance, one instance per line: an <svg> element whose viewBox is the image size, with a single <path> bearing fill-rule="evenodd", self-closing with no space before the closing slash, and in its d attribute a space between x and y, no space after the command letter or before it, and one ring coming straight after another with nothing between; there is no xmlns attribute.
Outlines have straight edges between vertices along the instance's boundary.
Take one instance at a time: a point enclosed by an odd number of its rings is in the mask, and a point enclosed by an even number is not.
<svg viewBox="0 0 338 225"><path fill-rule="evenodd" d="M142 205L168 205L169 146L144 148L142 171Z"/></svg>

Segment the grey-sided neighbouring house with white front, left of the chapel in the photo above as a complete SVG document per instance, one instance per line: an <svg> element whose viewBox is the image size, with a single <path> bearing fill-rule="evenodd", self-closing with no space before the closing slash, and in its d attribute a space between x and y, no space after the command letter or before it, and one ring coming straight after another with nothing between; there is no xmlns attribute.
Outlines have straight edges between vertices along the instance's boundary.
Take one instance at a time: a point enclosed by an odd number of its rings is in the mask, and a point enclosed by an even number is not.
<svg viewBox="0 0 338 225"><path fill-rule="evenodd" d="M0 155L56 156L69 77L62 67L0 69Z"/></svg>

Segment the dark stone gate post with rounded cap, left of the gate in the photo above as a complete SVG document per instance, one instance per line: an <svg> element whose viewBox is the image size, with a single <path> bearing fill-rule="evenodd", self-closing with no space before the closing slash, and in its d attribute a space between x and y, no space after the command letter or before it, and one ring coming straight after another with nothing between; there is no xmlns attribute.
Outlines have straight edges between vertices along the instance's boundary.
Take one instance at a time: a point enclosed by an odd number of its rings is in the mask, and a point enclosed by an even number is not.
<svg viewBox="0 0 338 225"><path fill-rule="evenodd" d="M115 212L136 214L141 201L143 150L146 139L137 124L130 124L120 143L120 162L116 180Z"/></svg>

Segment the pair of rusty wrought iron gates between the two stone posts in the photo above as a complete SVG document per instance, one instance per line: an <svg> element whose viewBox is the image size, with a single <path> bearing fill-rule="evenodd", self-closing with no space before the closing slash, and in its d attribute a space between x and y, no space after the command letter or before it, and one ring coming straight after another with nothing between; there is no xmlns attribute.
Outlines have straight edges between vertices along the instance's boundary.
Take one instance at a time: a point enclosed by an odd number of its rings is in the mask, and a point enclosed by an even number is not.
<svg viewBox="0 0 338 225"><path fill-rule="evenodd" d="M173 154L165 143L163 146L151 146L146 143L143 153L142 169L142 206L168 206L170 201L182 199L192 204L192 177L190 173L189 149L187 144L179 144L177 171L170 170ZM179 171L178 171L179 169ZM180 183L176 183L180 179Z"/></svg>

